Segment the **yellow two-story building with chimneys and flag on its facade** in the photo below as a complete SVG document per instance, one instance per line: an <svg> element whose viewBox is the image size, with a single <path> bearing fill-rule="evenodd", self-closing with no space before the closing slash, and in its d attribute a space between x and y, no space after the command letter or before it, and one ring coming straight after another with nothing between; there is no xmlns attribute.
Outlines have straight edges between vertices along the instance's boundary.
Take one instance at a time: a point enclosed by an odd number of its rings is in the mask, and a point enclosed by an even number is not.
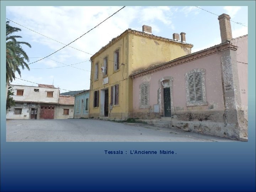
<svg viewBox="0 0 256 192"><path fill-rule="evenodd" d="M126 119L133 117L133 71L149 68L191 53L185 34L173 39L128 29L113 38L91 57L90 111L92 118Z"/></svg>

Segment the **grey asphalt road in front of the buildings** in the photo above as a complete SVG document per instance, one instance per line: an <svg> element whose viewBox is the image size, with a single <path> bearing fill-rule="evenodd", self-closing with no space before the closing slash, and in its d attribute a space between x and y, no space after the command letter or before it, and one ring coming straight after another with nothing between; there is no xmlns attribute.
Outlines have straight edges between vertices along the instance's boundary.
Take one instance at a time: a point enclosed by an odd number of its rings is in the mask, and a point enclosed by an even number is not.
<svg viewBox="0 0 256 192"><path fill-rule="evenodd" d="M142 123L98 119L8 119L6 142L238 142Z"/></svg>

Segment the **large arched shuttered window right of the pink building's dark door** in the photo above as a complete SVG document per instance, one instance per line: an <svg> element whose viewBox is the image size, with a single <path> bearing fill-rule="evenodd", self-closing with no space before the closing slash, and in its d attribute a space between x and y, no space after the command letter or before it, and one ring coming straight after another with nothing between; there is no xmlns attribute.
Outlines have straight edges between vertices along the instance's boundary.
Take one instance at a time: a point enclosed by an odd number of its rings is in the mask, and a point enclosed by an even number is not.
<svg viewBox="0 0 256 192"><path fill-rule="evenodd" d="M208 105L204 76L204 69L194 69L185 74L187 106Z"/></svg>

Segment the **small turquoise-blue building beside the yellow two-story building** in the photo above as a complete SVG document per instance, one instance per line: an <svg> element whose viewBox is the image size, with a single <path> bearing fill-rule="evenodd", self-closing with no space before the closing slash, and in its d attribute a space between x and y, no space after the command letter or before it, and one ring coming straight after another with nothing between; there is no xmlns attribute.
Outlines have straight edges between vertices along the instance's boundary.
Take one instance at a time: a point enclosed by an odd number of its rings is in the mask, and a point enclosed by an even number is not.
<svg viewBox="0 0 256 192"><path fill-rule="evenodd" d="M89 117L89 93L90 90L85 90L79 94L74 95L74 118Z"/></svg>

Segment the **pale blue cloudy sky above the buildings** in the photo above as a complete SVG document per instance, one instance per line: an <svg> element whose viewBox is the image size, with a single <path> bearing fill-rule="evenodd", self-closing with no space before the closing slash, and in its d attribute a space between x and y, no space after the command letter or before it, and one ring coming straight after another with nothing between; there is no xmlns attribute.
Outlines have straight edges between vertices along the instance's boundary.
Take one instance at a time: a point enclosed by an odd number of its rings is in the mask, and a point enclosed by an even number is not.
<svg viewBox="0 0 256 192"><path fill-rule="evenodd" d="M90 57L128 28L142 31L148 25L154 35L169 39L185 32L192 52L221 43L218 15L223 13L231 17L233 38L248 34L247 6L126 6L118 11L122 7L6 6L6 21L22 30L15 35L32 46L22 46L30 70L21 70L21 77L16 73L20 79L11 84L49 84L61 93L90 89ZM69 43L73 48L63 48Z"/></svg>

